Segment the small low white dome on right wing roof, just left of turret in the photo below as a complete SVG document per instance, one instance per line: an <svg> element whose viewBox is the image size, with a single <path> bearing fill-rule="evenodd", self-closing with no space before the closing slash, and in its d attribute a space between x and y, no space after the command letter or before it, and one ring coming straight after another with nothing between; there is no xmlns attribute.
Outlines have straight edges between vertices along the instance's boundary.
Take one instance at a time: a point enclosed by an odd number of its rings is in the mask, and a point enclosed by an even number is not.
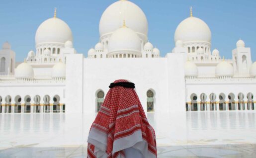
<svg viewBox="0 0 256 158"><path fill-rule="evenodd" d="M228 77L234 75L233 66L226 61L220 62L215 68L216 77Z"/></svg>

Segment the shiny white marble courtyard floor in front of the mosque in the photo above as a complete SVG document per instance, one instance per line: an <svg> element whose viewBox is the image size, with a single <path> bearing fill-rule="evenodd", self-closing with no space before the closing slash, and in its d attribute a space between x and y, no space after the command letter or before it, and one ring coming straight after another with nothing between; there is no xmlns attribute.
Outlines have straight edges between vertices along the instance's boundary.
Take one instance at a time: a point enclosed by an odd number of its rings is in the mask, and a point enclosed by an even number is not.
<svg viewBox="0 0 256 158"><path fill-rule="evenodd" d="M95 114L0 114L0 158L85 158ZM256 112L149 113L158 158L256 158Z"/></svg>

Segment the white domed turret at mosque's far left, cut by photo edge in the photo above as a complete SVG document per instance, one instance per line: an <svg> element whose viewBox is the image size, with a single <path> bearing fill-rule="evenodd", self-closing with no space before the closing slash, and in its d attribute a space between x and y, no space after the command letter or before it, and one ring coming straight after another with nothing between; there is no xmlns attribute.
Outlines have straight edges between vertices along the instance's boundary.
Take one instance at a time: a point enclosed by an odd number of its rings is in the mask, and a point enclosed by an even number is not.
<svg viewBox="0 0 256 158"><path fill-rule="evenodd" d="M0 75L14 75L15 52L8 42L3 43L0 50Z"/></svg>

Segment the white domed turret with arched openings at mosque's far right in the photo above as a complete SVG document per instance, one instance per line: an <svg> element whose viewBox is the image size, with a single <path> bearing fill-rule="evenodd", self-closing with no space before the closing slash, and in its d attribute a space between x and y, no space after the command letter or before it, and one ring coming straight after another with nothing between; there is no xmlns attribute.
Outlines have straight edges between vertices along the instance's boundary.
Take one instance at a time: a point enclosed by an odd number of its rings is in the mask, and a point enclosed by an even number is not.
<svg viewBox="0 0 256 158"><path fill-rule="evenodd" d="M237 48L232 51L233 67L236 76L249 76L252 65L251 48L245 47L243 40L237 41Z"/></svg>

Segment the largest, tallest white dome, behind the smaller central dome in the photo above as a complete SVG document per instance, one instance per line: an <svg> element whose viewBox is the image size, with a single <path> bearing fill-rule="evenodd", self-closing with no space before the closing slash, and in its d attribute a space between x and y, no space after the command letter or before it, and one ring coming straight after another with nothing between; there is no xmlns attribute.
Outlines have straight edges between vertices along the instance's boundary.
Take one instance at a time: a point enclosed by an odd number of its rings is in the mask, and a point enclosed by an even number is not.
<svg viewBox="0 0 256 158"><path fill-rule="evenodd" d="M147 17L138 5L128 0L118 0L106 8L99 21L100 37L113 33L122 26L123 20L126 21L127 27L147 41Z"/></svg>

